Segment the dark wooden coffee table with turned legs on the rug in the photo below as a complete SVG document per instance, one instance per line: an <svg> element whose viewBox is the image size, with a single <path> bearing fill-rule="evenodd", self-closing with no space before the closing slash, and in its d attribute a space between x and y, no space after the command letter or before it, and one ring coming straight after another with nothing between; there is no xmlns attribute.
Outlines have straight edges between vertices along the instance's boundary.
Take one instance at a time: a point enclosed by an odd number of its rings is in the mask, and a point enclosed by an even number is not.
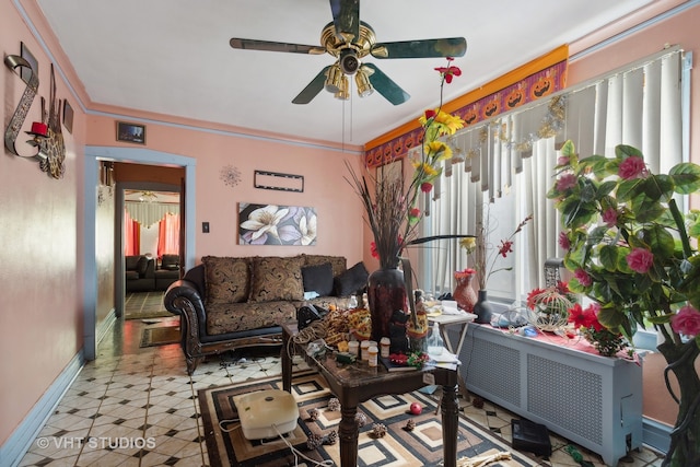
<svg viewBox="0 0 700 467"><path fill-rule="evenodd" d="M406 394L427 385L442 385L443 456L445 467L457 465L457 365L450 367L425 367L421 371L388 372L382 363L375 367L366 363L340 364L332 353L310 357L306 345L294 342L298 334L296 322L282 324L282 387L287 392L292 388L292 358L302 355L316 367L328 383L328 387L341 405L341 419L338 427L340 440L340 466L358 465L358 424L354 417L358 405L373 397L386 394Z"/></svg>

